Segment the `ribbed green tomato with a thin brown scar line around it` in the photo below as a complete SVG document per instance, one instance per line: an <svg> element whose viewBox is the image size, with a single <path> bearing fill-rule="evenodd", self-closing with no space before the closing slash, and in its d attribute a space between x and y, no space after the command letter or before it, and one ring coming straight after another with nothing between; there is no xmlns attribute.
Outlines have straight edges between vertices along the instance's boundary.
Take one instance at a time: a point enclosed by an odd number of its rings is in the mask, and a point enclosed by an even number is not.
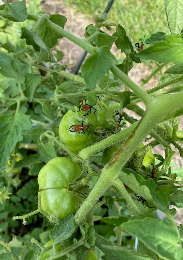
<svg viewBox="0 0 183 260"><path fill-rule="evenodd" d="M80 200L68 193L67 184L81 172L81 166L68 158L50 160L38 174L41 212L60 220L76 212Z"/></svg>

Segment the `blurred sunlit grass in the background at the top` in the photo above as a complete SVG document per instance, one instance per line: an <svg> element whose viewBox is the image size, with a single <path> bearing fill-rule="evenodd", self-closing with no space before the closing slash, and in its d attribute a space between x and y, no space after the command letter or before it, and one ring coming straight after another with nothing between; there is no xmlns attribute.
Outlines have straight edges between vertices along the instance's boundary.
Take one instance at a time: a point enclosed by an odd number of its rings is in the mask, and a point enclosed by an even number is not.
<svg viewBox="0 0 183 260"><path fill-rule="evenodd" d="M91 19L100 17L108 0L67 0L66 4L84 13ZM109 22L120 22L125 25L127 33L137 42L146 35L163 31L168 24L164 9L164 1L160 0L115 0L107 15Z"/></svg>

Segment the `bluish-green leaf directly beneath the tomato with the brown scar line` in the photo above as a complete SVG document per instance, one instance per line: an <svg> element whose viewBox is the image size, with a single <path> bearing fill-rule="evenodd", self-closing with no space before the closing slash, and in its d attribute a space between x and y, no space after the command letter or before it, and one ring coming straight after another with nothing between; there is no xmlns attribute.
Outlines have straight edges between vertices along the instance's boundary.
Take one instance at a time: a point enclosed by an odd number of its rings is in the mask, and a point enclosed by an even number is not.
<svg viewBox="0 0 183 260"><path fill-rule="evenodd" d="M54 226L53 230L50 231L49 237L54 243L62 242L69 238L75 231L74 228L74 215L71 214L64 218L60 224Z"/></svg>

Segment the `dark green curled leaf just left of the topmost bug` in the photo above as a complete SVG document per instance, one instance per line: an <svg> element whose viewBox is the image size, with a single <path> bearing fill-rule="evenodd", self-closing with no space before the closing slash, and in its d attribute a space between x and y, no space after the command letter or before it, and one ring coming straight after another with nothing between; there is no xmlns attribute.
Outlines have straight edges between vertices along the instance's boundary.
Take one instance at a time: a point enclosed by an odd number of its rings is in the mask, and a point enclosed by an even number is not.
<svg viewBox="0 0 183 260"><path fill-rule="evenodd" d="M116 33L113 36L117 37L116 47L124 52L125 54L130 54L132 52L137 53L134 43L130 36L126 33L125 27L122 24L117 24Z"/></svg>

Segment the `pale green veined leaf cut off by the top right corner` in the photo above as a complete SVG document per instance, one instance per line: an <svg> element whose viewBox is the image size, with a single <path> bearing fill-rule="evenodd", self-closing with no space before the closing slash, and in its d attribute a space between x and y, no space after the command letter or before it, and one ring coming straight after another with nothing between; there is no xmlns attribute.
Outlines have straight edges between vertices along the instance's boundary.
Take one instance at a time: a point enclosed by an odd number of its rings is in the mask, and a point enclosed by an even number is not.
<svg viewBox="0 0 183 260"><path fill-rule="evenodd" d="M171 34L180 34L183 27L183 0L165 0L165 12Z"/></svg>

